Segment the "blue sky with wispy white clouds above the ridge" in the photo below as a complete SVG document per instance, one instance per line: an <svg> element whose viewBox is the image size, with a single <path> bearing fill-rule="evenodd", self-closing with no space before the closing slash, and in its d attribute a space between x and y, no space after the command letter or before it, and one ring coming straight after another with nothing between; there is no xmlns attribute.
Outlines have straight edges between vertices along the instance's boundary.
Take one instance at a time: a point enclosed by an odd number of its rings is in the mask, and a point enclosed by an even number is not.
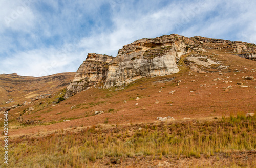
<svg viewBox="0 0 256 168"><path fill-rule="evenodd" d="M256 1L0 0L0 74L75 72L88 53L166 34L256 43Z"/></svg>

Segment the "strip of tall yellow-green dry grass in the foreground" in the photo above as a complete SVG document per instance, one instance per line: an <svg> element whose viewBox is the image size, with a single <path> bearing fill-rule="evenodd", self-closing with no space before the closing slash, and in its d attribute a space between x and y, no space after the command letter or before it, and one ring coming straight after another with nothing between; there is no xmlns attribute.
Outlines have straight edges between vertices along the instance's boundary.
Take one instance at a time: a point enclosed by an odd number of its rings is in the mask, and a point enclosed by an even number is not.
<svg viewBox="0 0 256 168"><path fill-rule="evenodd" d="M115 164L119 164L120 159L137 157L152 160L216 157L219 160L221 153L229 157L235 151L255 150L255 128L255 117L239 114L216 121L143 123L107 129L98 125L76 132L56 131L47 137L22 136L10 140L9 166L83 167L104 158L116 159ZM0 153L3 152L1 148ZM253 160L231 163L256 166ZM231 166L231 163L224 165ZM104 164L112 163L105 160Z"/></svg>

